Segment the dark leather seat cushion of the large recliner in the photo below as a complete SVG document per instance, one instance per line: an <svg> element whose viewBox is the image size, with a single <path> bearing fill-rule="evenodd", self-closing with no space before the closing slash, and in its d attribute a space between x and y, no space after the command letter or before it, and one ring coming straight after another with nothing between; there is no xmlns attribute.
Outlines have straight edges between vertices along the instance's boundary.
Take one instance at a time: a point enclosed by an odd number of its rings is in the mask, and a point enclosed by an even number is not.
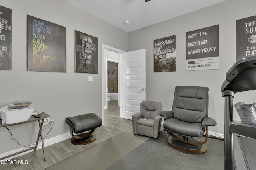
<svg viewBox="0 0 256 170"><path fill-rule="evenodd" d="M165 120L163 128L168 131L178 133L182 136L200 138L202 135L204 135L204 130L202 129L201 123L189 123L175 118Z"/></svg>

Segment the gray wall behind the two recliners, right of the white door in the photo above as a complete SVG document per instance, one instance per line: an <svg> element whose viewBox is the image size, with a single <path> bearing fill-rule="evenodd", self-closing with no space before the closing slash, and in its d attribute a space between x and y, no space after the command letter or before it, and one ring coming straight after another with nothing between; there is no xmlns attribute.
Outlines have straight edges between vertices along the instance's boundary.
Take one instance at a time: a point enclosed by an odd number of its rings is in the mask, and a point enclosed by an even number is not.
<svg viewBox="0 0 256 170"><path fill-rule="evenodd" d="M162 110L170 110L174 88L178 85L207 86L209 117L218 125L209 131L224 134L224 98L220 91L226 72L236 62L236 20L256 15L255 0L227 0L225 2L179 16L128 33L128 51L146 49L146 100L162 102ZM171 10L171 8L170 8ZM219 69L186 71L186 32L219 25ZM153 72L153 41L176 35L176 72ZM256 102L255 92L237 93L234 103ZM234 118L240 120L234 110Z"/></svg>

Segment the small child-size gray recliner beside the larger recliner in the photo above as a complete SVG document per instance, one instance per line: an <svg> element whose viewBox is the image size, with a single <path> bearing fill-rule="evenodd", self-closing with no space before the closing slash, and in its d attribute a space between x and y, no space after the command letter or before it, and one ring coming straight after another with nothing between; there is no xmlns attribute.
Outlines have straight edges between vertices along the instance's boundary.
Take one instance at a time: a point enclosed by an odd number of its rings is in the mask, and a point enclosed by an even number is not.
<svg viewBox="0 0 256 170"><path fill-rule="evenodd" d="M161 127L161 102L145 101L140 103L140 112L132 115L132 129L134 135L145 135L156 139Z"/></svg>

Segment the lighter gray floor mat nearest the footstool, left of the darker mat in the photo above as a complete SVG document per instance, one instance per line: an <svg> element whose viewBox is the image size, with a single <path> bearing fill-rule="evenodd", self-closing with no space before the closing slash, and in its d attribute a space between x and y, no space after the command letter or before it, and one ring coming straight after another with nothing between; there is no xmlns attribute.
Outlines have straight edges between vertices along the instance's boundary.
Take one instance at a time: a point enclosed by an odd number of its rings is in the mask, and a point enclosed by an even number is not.
<svg viewBox="0 0 256 170"><path fill-rule="evenodd" d="M105 170L145 140L144 137L123 132L45 169Z"/></svg>

